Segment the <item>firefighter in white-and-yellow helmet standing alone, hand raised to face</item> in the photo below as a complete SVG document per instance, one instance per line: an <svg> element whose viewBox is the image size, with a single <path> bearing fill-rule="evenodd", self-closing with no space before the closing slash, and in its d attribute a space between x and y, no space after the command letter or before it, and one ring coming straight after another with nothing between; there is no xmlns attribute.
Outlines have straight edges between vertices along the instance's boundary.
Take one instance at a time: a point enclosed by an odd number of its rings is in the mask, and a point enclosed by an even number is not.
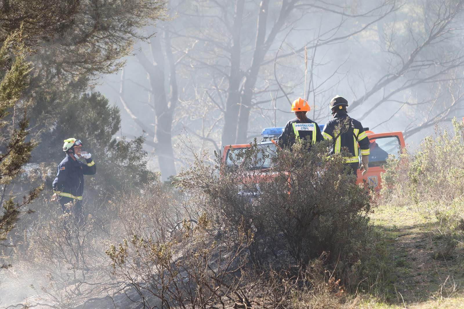
<svg viewBox="0 0 464 309"><path fill-rule="evenodd" d="M57 177L53 181L53 200L58 200L61 208L66 213L70 209L65 205L76 201L73 206L73 213L77 221L82 219L82 196L84 193L84 175L94 175L97 166L91 158L91 154L81 151L82 142L79 139L65 139L63 151L66 157L58 165ZM84 158L86 163L79 159Z"/></svg>

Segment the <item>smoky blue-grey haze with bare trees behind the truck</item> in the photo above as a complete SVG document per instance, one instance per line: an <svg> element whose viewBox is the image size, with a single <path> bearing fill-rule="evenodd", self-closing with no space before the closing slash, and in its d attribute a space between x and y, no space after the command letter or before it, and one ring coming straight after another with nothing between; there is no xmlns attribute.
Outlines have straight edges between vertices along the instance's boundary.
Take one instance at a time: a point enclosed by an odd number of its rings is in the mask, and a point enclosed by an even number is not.
<svg viewBox="0 0 464 309"><path fill-rule="evenodd" d="M418 143L464 114L462 14L442 2L170 1L171 20L96 89L121 109L122 135L146 131L153 170L167 158L163 178L184 161L180 137L248 143L293 118L299 96L319 124L342 95L364 126Z"/></svg>

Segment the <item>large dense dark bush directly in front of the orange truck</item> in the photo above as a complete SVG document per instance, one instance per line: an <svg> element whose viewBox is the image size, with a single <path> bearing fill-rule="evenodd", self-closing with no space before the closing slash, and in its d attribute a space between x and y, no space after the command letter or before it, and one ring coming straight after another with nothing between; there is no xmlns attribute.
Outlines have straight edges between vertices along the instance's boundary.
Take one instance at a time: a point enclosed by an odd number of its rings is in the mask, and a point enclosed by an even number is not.
<svg viewBox="0 0 464 309"><path fill-rule="evenodd" d="M253 234L248 250L254 265L273 260L307 265L329 252L326 266L350 282L352 266L368 259L371 228L369 195L343 173L342 155L328 157L327 144L301 142L276 158L258 147L231 155L227 167L199 155L180 173L180 188L201 201L219 233L245 229ZM269 170L260 169L272 160ZM293 261L293 262L291 262ZM362 265L362 263L361 263ZM359 271L359 270L357 270Z"/></svg>

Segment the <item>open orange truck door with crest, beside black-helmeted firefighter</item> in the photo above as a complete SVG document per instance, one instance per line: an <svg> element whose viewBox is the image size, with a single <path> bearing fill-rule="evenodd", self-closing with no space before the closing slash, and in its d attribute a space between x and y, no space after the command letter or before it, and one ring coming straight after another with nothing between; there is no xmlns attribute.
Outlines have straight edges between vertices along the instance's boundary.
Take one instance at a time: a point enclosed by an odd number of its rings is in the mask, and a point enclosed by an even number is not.
<svg viewBox="0 0 464 309"><path fill-rule="evenodd" d="M388 156L393 155L399 158L406 145L402 132L371 134L368 138L370 141L369 169L364 176L358 170L356 183L366 182L367 186L379 192L382 188L380 174L385 172L383 165L387 163Z"/></svg>

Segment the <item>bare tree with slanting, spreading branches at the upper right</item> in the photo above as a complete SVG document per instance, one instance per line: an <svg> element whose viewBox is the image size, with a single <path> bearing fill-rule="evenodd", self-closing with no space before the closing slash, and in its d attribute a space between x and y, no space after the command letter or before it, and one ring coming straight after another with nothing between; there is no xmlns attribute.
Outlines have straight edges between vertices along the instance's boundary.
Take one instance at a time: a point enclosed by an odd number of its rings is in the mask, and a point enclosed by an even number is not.
<svg viewBox="0 0 464 309"><path fill-rule="evenodd" d="M351 108L362 109L359 120L388 110L382 123L406 113L412 136L462 110L464 1L413 2L405 12L382 25L386 69L361 95L354 89Z"/></svg>

